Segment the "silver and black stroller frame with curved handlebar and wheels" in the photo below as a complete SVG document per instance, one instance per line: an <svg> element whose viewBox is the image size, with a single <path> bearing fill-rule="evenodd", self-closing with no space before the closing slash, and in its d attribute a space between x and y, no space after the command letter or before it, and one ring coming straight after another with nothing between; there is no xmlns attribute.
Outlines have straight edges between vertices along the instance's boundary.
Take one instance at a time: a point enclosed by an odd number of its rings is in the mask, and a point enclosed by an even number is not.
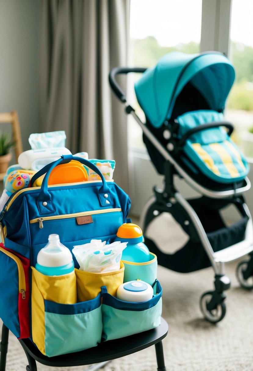
<svg viewBox="0 0 253 371"><path fill-rule="evenodd" d="M197 233L197 236L206 252L211 266L214 269L214 290L205 292L200 298L200 309L204 317L209 322L219 322L224 318L226 314L226 305L224 300L226 296L224 291L230 288L230 279L225 275L224 263L231 262L233 260L239 259L247 254L249 254L248 260L243 260L239 263L236 269L237 279L240 285L246 289L252 289L253 286L249 283L249 279L253 276L253 224L252 217L250 215L249 209L244 201L242 193L250 189L250 181L246 177L244 178L244 183L240 188L234 188L231 190L215 191L203 187L194 181L184 169L174 160L170 155L170 147L167 148L162 145L154 134L149 130L147 125L145 125L138 115L135 113L134 108L126 101L126 96L124 91L116 82L115 76L119 74L127 74L130 72L143 73L146 68L128 68L128 67L116 67L109 73L109 82L112 90L119 98L119 100L125 104L126 114L131 114L135 121L142 128L143 133L149 139L149 141L154 145L154 147L160 152L160 154L165 159L164 167L164 188L161 190L154 187L154 195L149 198L147 203L142 210L140 225L143 229L143 234L147 231L148 225L161 213L167 212L171 214L173 206L180 206L181 211L184 213L184 225L191 226L192 229ZM173 148L172 148L173 149ZM247 219L244 239L238 243L232 244L222 250L214 252L210 241L208 240L207 233L195 212L191 204L186 200L174 187L174 175L178 175L184 178L186 183L195 189L202 196L209 199L224 200L227 204L234 204L237 210L243 218ZM145 241L147 239L145 238ZM167 254L162 253L158 247L153 243L153 252L160 256L165 256ZM155 251L154 251L155 249ZM158 259L160 265L167 267L163 259Z"/></svg>

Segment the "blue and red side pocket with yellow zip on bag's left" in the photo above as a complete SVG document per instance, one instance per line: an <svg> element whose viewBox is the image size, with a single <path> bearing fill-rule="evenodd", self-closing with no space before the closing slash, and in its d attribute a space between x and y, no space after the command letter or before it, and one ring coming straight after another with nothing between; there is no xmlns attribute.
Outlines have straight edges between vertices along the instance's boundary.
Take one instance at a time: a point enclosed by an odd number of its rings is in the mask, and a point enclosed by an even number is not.
<svg viewBox="0 0 253 371"><path fill-rule="evenodd" d="M0 317L17 338L30 337L30 260L0 244Z"/></svg>

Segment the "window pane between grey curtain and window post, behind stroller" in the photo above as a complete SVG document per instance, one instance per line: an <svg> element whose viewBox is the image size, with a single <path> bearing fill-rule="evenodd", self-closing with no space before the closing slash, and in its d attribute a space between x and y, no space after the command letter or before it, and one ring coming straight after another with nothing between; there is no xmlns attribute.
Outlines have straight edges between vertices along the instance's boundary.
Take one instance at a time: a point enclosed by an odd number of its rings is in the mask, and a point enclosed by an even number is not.
<svg viewBox="0 0 253 371"><path fill-rule="evenodd" d="M182 12L184 9L184 12ZM132 0L130 8L129 66L151 67L166 53L200 51L202 0ZM139 76L128 76L128 101L145 121L134 93ZM144 149L142 130L129 115L130 148Z"/></svg>

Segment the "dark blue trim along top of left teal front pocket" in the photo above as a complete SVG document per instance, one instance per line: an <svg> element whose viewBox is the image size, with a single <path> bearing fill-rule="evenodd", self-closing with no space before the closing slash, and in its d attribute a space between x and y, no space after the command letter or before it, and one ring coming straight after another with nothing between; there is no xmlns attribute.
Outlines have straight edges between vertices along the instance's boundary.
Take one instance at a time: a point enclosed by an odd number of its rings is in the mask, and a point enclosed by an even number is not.
<svg viewBox="0 0 253 371"><path fill-rule="evenodd" d="M49 300L44 300L44 302L45 312L48 313L66 315L88 313L96 308L99 308L101 305L101 294L99 294L95 299L76 304L59 304Z"/></svg>

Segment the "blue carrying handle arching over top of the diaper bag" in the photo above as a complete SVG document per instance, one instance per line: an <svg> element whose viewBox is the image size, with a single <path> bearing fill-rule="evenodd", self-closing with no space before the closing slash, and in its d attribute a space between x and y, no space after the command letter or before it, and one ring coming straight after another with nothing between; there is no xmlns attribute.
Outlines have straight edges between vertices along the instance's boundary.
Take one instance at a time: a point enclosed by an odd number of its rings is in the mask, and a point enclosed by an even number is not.
<svg viewBox="0 0 253 371"><path fill-rule="evenodd" d="M101 206L110 206L113 205L113 200L110 193L110 188L106 184L106 180L104 178L104 175L101 173L101 171L96 167L96 165L92 164L92 162L85 160L82 157L76 157L73 155L62 155L59 160L53 161L50 164L43 167L41 170L39 170L34 176L32 177L31 184L34 183L34 181L39 178L41 175L45 174L45 177L42 181L40 194L37 198L37 204L40 210L40 213L49 213L52 211L55 211L52 200L51 200L51 194L48 191L48 179L51 171L53 168L55 168L57 165L60 164L66 164L72 160L79 161L83 165L91 168L95 173L97 173L102 180L102 187L98 190L98 197Z"/></svg>

